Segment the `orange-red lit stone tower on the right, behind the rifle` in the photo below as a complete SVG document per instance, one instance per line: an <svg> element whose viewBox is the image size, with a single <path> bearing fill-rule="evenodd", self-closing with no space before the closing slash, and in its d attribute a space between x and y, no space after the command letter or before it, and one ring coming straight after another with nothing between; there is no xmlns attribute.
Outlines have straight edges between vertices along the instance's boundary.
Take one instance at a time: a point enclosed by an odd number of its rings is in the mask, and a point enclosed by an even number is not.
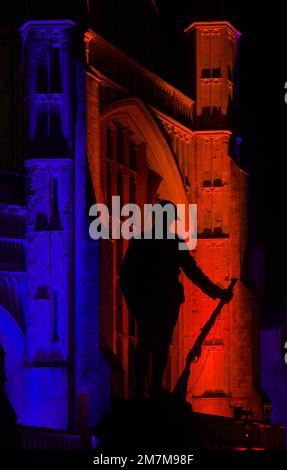
<svg viewBox="0 0 287 470"><path fill-rule="evenodd" d="M186 29L196 63L195 154L191 197L198 205L195 256L208 276L222 287L239 279L233 301L224 307L194 365L191 394L196 411L232 416L238 406L251 407L262 417L256 389L254 298L245 287L242 269L247 243L247 179L238 166L239 139L232 132L236 101L236 63L240 33L228 22L193 23ZM193 290L193 338L214 303ZM257 331L258 334L258 331Z"/></svg>

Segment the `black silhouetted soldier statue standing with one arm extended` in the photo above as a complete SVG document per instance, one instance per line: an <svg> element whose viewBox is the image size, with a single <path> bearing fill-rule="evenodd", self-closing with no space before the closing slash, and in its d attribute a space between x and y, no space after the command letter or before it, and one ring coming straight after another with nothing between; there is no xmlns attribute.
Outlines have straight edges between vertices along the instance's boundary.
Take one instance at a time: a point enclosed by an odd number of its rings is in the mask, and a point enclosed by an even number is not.
<svg viewBox="0 0 287 470"><path fill-rule="evenodd" d="M165 231L162 239L155 238L155 226L150 230L151 239L131 239L127 249L120 283L128 310L137 324L138 343L135 351L135 395L144 397L145 378L152 353L152 377L150 394L160 396L162 378L176 325L180 305L184 302L184 289L178 276L181 271L212 299L231 300L227 289L215 285L197 266L189 250L180 250L183 240L175 235L169 239L171 222L179 220L176 206L170 201L159 203L163 208L171 204L174 217L163 213ZM169 223L168 223L169 222Z"/></svg>

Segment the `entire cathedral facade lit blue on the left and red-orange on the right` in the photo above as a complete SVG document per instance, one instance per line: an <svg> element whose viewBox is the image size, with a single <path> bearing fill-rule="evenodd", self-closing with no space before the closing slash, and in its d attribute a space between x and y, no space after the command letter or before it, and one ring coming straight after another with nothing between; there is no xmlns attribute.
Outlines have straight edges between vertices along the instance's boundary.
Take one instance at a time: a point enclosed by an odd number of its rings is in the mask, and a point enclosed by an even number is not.
<svg viewBox="0 0 287 470"><path fill-rule="evenodd" d="M19 35L25 172L6 174L0 212L0 342L19 422L79 430L133 393L136 330L118 283L127 242L89 237L90 205L113 195L198 205L198 264L221 286L239 282L192 366L188 400L261 420L258 309L241 282L248 175L230 124L239 32L226 21L185 30L188 95L70 20L28 21ZM182 281L168 389L215 306Z"/></svg>

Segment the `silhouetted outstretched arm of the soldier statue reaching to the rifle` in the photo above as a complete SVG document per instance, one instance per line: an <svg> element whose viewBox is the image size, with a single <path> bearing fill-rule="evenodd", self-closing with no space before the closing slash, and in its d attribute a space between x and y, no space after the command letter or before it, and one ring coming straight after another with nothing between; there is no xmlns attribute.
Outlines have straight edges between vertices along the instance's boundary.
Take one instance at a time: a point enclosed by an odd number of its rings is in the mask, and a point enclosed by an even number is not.
<svg viewBox="0 0 287 470"><path fill-rule="evenodd" d="M197 265L195 259L188 250L180 250L180 267L184 274L212 299L222 298L225 289L214 284Z"/></svg>

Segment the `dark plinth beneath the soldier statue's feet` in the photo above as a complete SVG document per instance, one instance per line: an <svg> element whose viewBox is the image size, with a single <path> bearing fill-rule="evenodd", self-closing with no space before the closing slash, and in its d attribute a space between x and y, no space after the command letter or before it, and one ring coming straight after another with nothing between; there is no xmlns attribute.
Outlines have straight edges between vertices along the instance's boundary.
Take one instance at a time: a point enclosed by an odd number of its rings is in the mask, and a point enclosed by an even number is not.
<svg viewBox="0 0 287 470"><path fill-rule="evenodd" d="M96 430L98 452L113 449L200 449L204 430L191 404L179 403L171 394L161 399L118 400Z"/></svg>

